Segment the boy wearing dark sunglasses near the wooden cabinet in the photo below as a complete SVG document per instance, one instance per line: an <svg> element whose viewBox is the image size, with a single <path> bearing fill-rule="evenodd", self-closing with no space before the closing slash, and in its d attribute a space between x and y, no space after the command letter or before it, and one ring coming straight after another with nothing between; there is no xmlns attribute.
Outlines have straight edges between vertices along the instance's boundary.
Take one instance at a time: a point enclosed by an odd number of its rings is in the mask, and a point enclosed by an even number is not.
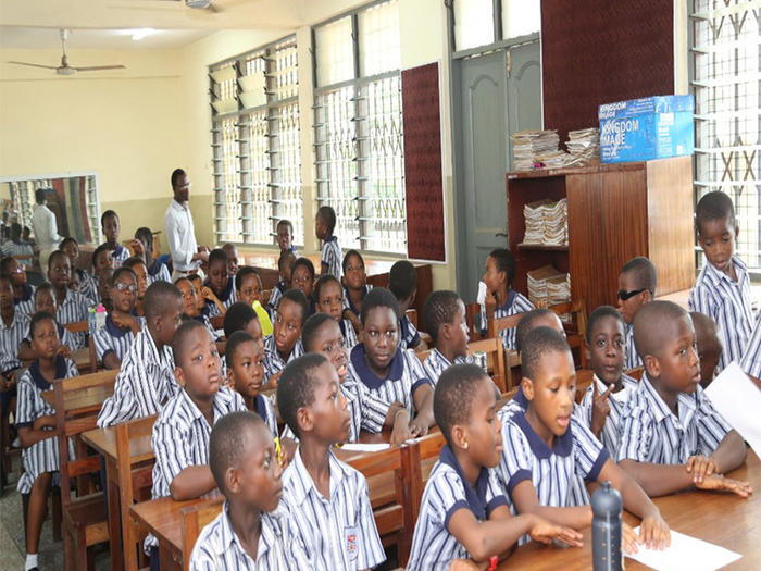
<svg viewBox="0 0 761 571"><path fill-rule="evenodd" d="M639 308L652 301L657 285L656 266L644 256L626 262L619 274L619 312L626 323L626 371L643 364L634 345L634 318Z"/></svg>

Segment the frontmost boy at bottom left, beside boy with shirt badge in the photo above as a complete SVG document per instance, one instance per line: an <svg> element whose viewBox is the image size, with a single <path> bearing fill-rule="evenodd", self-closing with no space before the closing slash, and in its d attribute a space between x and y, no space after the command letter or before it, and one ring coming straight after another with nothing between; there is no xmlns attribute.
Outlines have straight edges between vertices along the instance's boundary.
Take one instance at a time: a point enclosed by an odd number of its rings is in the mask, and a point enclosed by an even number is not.
<svg viewBox="0 0 761 571"><path fill-rule="evenodd" d="M312 569L292 537L280 501L283 467L260 417L230 412L220 419L209 437L209 467L226 500L199 534L190 571Z"/></svg>

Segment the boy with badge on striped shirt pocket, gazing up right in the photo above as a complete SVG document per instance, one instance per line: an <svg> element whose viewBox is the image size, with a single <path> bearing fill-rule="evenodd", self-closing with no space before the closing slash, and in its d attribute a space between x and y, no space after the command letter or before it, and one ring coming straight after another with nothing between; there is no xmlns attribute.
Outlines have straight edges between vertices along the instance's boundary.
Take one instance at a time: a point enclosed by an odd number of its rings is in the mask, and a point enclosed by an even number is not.
<svg viewBox="0 0 761 571"><path fill-rule="evenodd" d="M325 357L299 357L277 384L280 415L299 438L283 473L294 533L319 570L371 569L386 559L364 476L330 451L351 419L338 374Z"/></svg>

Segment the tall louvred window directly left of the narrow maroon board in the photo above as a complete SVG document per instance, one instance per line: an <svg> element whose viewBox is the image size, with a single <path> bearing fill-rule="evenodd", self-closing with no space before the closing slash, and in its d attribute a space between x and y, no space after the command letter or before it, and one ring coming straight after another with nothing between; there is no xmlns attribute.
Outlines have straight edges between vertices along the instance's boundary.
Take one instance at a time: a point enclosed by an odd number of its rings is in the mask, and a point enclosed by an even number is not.
<svg viewBox="0 0 761 571"><path fill-rule="evenodd" d="M319 206L341 246L407 252L398 0L314 28Z"/></svg>

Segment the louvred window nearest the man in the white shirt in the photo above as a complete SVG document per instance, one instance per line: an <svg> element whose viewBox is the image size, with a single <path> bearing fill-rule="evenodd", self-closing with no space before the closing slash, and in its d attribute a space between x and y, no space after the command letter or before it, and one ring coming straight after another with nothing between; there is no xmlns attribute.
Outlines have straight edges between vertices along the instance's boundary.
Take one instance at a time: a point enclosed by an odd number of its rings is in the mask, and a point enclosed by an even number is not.
<svg viewBox="0 0 761 571"><path fill-rule="evenodd" d="M214 234L274 244L280 219L303 244L296 39L210 67Z"/></svg>

